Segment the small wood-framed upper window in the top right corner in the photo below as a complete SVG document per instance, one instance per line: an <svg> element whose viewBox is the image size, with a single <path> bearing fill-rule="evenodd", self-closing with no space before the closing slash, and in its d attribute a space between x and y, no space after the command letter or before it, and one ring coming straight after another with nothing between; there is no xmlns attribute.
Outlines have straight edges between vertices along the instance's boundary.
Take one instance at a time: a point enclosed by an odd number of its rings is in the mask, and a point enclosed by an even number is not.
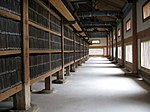
<svg viewBox="0 0 150 112"><path fill-rule="evenodd" d="M142 11L143 11L143 20L147 20L150 18L150 1L146 2L143 7L142 7Z"/></svg>

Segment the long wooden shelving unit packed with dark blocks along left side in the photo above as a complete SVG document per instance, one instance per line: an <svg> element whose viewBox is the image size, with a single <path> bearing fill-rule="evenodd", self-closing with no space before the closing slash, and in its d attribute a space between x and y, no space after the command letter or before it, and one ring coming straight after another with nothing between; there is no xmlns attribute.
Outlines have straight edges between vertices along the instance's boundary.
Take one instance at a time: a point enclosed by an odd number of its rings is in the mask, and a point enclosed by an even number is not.
<svg viewBox="0 0 150 112"><path fill-rule="evenodd" d="M27 110L31 107L32 84L44 79L44 89L51 90L51 76L57 74L58 80L64 80L64 69L67 73L75 71L72 69L75 69L76 61L79 62L88 56L86 51L88 44L84 45L84 41L81 43L80 35L74 33L71 26L63 24L63 18L51 9L49 2L44 3L42 0L14 2L18 2L15 3L17 5L14 10L9 9L11 4L9 7L0 4L0 26L6 26L0 28L0 39L3 40L2 35L8 35L8 40L9 37L16 39L10 40L10 45L6 40L3 44L0 43L0 68L9 67L0 70L0 101L13 96L14 107ZM7 23L4 24L3 18L6 22L10 22L9 26ZM11 22L14 26L11 26ZM7 58L10 58L10 62ZM16 66L13 66L12 58L19 59L15 62ZM15 75L13 70L17 72L18 79L11 78L16 82L9 83L8 87L3 86L5 82L10 81L8 78L7 81L2 81L4 70L10 72L4 74L5 77Z"/></svg>

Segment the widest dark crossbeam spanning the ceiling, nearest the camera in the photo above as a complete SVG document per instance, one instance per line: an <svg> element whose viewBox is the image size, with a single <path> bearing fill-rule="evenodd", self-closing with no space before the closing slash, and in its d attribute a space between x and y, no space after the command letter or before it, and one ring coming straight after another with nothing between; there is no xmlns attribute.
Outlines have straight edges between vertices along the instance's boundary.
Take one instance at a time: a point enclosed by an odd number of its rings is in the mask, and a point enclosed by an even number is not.
<svg viewBox="0 0 150 112"><path fill-rule="evenodd" d="M79 12L79 17L98 17L98 16L114 16L114 17L120 17L122 16L121 11L112 11L112 10L106 10L106 11L91 11L91 12Z"/></svg>

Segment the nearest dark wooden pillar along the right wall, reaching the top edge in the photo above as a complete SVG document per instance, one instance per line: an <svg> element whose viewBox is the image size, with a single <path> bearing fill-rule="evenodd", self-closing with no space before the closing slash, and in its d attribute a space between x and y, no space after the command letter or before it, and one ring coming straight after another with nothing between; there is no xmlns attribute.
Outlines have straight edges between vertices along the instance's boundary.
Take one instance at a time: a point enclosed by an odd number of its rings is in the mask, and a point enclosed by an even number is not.
<svg viewBox="0 0 150 112"><path fill-rule="evenodd" d="M137 12L136 12L136 0L133 0L132 3L132 46L133 46L133 66L132 72L134 74L138 73L138 43L137 43Z"/></svg>

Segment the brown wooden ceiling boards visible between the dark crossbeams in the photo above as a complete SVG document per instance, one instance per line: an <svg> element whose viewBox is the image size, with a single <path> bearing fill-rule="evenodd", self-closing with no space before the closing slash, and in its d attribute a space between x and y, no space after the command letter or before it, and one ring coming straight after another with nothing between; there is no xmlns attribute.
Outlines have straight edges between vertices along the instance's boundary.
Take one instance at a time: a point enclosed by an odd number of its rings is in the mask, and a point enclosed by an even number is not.
<svg viewBox="0 0 150 112"><path fill-rule="evenodd" d="M77 15L79 16L82 12L100 12L100 11L118 11L122 12L123 7L127 3L127 0L70 0L70 3L74 7ZM79 16L80 22L86 31L108 31L107 28L92 28L86 29L83 21L88 23L99 22L99 21L116 21L118 17L104 15L92 15L91 17ZM97 24L100 25L100 24ZM104 24L106 25L106 24ZM87 33L88 34L88 33Z"/></svg>

